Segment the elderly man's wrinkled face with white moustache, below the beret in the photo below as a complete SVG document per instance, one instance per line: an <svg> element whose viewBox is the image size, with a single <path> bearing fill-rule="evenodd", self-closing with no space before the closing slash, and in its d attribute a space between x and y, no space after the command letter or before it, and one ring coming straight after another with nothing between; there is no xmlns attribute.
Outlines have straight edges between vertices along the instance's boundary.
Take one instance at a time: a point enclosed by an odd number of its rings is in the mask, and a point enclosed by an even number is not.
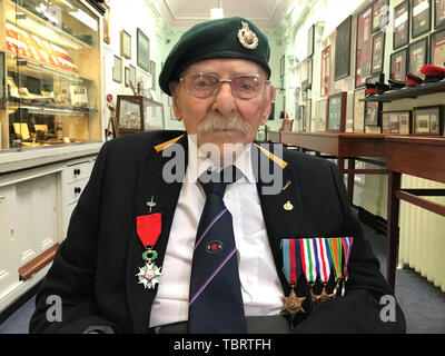
<svg viewBox="0 0 445 356"><path fill-rule="evenodd" d="M244 59L209 59L191 65L182 77L189 73L208 73L222 80L250 75L258 77L259 93L250 99L234 96L229 82L221 82L219 91L207 98L187 92L184 81L171 90L175 116L184 121L188 135L197 135L198 147L216 144L222 149L224 144L250 144L258 126L269 117L274 96L274 88L266 83L261 67Z"/></svg>

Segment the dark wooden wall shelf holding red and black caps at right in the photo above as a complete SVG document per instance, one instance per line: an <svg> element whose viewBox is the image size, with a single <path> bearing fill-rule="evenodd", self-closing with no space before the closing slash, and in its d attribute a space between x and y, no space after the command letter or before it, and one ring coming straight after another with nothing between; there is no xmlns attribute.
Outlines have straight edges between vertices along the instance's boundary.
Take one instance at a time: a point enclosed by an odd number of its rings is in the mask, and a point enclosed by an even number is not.
<svg viewBox="0 0 445 356"><path fill-rule="evenodd" d="M399 99L415 99L417 97L438 93L445 91L445 79L437 82L423 83L417 87L405 87L399 90L384 92L379 96L360 99L360 101L390 102Z"/></svg>

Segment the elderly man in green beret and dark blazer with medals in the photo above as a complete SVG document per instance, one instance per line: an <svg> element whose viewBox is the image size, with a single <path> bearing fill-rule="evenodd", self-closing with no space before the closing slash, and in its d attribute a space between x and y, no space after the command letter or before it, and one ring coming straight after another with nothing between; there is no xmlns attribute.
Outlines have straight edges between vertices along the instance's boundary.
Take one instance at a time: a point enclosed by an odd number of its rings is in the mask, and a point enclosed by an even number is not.
<svg viewBox="0 0 445 356"><path fill-rule="evenodd" d="M103 145L31 332L404 332L336 166L253 144L269 56L238 17L180 38L159 85L186 132Z"/></svg>

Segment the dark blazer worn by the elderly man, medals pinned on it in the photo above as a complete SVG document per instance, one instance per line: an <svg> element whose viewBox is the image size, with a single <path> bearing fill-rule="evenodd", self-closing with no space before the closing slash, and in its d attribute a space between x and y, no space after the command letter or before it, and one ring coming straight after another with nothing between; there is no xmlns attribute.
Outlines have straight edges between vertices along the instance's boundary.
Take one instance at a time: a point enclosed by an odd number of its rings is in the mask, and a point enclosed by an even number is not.
<svg viewBox="0 0 445 356"><path fill-rule="evenodd" d="M102 146L71 216L67 238L37 295L31 333L82 333L91 325L111 326L116 333L148 332L157 288L145 289L137 283L145 248L136 233L136 217L149 214L147 201L154 196L156 206L151 212L162 214L161 234L155 247L159 254L156 264L162 266L181 188L181 182L162 179L162 167L171 160L171 157L165 157L164 142L177 137L180 137L179 146L171 147L184 148L184 167L177 167L184 171L188 160L187 136L182 131L129 135ZM307 313L296 316L293 332L405 332L404 315L398 306L395 322L380 320L384 307L379 304L380 296L390 295L392 290L379 273L378 261L359 222L352 215L337 167L295 150L284 150L284 162L264 150L257 156L254 167L263 165L264 168L266 162L269 169L283 169L284 189L279 194L264 195L261 189L268 182L261 177L258 177L257 187L286 296L289 286L281 271L283 238L354 237L346 295L316 310L312 308L310 298L306 298L304 308ZM293 205L291 210L284 209L287 201ZM307 283L304 277L301 279L297 295L309 296ZM332 290L333 281L329 288ZM319 290L318 283L315 291ZM47 310L52 306L47 304L49 295L57 295L62 300L61 322L47 320Z"/></svg>

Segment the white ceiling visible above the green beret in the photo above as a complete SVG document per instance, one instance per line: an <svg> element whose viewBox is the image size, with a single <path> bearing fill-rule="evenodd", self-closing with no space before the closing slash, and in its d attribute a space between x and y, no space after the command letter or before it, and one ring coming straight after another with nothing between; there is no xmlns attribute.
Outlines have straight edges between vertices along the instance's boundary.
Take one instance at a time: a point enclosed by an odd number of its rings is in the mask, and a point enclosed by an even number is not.
<svg viewBox="0 0 445 356"><path fill-rule="evenodd" d="M210 19L221 3L224 17L241 16L260 28L275 29L291 0L156 0L157 10L171 28L189 28Z"/></svg>

